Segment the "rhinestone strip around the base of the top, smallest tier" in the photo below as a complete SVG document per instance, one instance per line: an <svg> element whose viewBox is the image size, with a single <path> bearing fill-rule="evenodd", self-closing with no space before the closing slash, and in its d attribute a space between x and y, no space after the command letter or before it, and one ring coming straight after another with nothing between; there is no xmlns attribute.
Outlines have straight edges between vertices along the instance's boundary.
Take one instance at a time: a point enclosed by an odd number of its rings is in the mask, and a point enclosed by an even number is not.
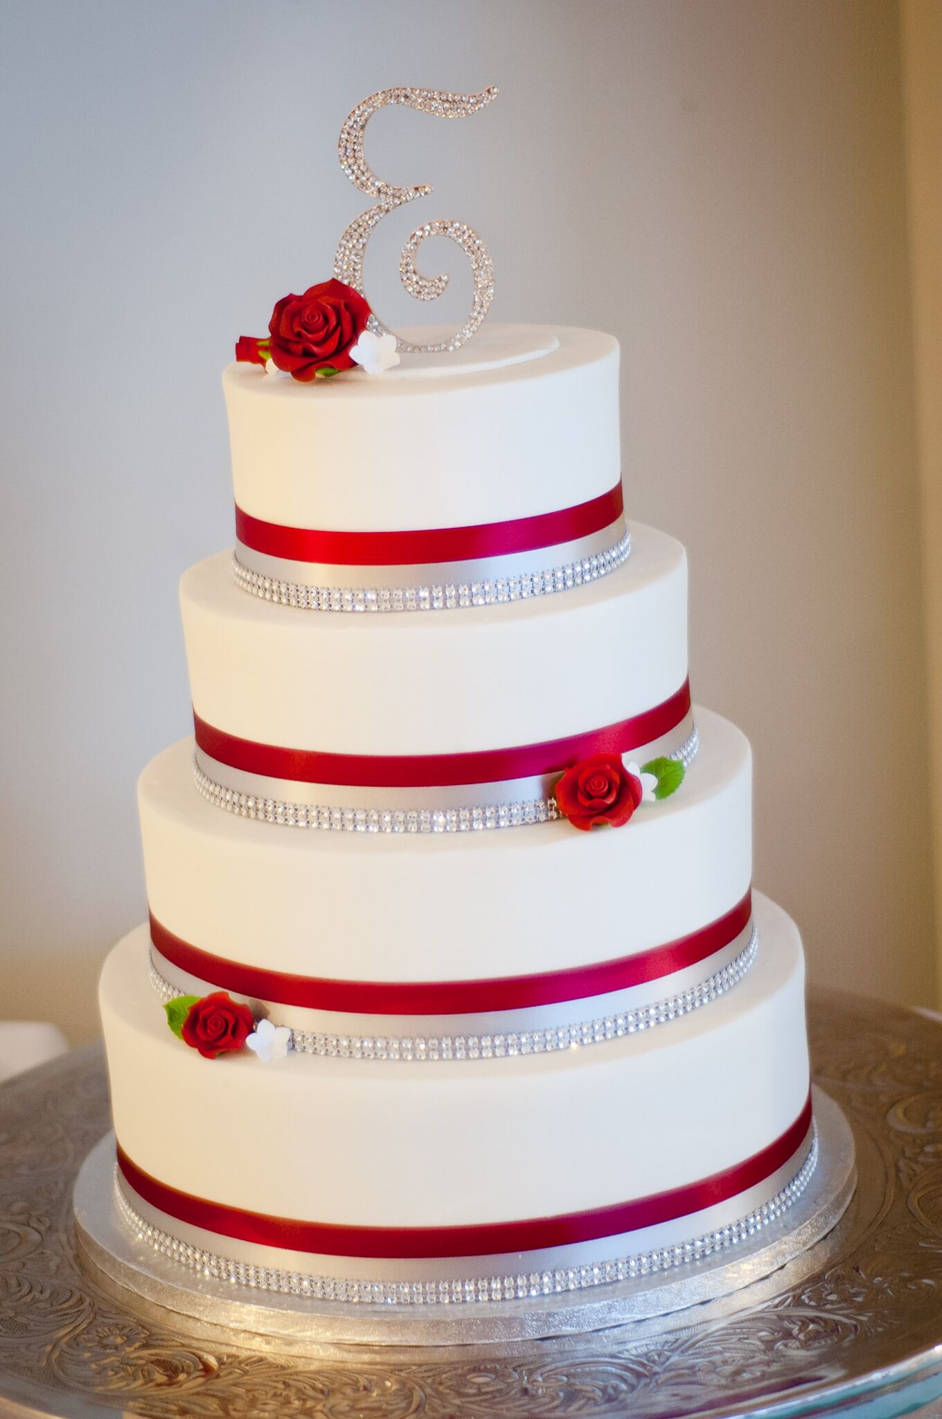
<svg viewBox="0 0 942 1419"><path fill-rule="evenodd" d="M480 582L441 583L436 586L305 586L279 582L244 566L233 555L233 576L244 592L275 602L318 612L443 612L465 606L497 606L552 596L573 586L587 586L607 576L631 555L631 535L626 532L614 546L563 566L519 576L498 576Z"/></svg>

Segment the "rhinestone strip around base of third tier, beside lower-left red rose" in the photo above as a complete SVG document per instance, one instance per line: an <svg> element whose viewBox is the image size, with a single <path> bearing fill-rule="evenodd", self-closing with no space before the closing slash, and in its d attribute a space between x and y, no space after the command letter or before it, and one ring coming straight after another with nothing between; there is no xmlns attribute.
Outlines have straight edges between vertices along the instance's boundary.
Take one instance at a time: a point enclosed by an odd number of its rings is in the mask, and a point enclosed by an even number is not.
<svg viewBox="0 0 942 1419"><path fill-rule="evenodd" d="M291 1049L301 1054L319 1054L329 1059L358 1060L488 1060L511 1059L516 1054L548 1054L555 1050L577 1049L584 1044L603 1044L626 1034L637 1034L657 1025L667 1025L691 1010L699 1010L711 1000L719 999L738 985L752 969L759 951L759 934L753 924L746 946L715 971L706 981L689 986L678 995L651 1005L621 1010L617 1015L579 1020L575 1025L552 1025L545 1030L516 1030L506 1034L440 1034L440 1036L355 1036L322 1034L316 1030L292 1030ZM170 985L150 958L150 985L166 1005L180 995ZM272 1025L277 1025L272 1020Z"/></svg>

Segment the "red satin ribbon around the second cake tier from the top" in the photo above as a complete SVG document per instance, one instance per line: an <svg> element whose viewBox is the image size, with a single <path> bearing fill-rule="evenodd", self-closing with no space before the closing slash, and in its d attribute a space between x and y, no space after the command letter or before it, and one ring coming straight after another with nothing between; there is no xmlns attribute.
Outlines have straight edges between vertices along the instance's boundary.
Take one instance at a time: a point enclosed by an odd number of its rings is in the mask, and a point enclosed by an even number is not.
<svg viewBox="0 0 942 1419"><path fill-rule="evenodd" d="M274 744L240 739L207 724L193 711L196 742L218 763L244 773L297 783L333 783L345 788L419 789L457 783L494 783L560 773L570 763L593 753L628 753L643 744L670 734L691 708L689 681L677 694L630 719L575 734L567 739L546 739L516 749L478 749L472 753L323 753L319 749L282 749Z"/></svg>

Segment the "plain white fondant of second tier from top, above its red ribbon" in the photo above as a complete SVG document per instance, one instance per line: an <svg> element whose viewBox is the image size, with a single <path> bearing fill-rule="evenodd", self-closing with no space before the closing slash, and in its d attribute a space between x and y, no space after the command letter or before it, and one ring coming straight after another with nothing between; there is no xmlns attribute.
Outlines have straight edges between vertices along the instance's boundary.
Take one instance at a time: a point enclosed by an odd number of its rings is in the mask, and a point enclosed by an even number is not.
<svg viewBox="0 0 942 1419"><path fill-rule="evenodd" d="M220 552L184 573L197 714L261 744L462 753L538 744L651 710L687 678L687 556L631 526L624 566L509 606L331 614L248 596Z"/></svg>

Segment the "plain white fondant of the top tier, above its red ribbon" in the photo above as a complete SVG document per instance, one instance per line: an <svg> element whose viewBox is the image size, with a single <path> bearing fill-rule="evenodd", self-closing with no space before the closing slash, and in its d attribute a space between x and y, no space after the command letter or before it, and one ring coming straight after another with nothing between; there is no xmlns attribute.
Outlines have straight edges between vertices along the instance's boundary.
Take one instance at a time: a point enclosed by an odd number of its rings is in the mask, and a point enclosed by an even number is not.
<svg viewBox="0 0 942 1419"><path fill-rule="evenodd" d="M599 331L491 325L467 352L404 356L376 379L304 385L230 365L223 389L236 501L267 522L468 526L619 481L619 346Z"/></svg>

